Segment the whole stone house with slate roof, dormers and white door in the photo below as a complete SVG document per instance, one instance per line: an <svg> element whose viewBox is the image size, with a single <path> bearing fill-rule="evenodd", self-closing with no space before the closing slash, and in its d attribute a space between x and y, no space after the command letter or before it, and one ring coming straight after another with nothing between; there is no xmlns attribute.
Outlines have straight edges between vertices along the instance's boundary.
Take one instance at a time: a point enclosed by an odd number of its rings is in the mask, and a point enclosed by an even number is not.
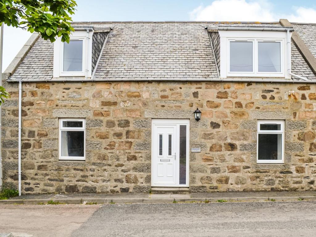
<svg viewBox="0 0 316 237"><path fill-rule="evenodd" d="M316 190L315 24L73 26L69 44L33 34L3 74L4 186Z"/></svg>

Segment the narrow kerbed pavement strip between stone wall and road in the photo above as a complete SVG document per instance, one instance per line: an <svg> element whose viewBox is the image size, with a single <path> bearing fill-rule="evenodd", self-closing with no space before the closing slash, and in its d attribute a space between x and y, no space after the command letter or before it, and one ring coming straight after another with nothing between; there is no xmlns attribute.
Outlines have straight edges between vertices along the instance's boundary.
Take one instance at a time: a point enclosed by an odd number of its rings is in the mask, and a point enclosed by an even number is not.
<svg viewBox="0 0 316 237"><path fill-rule="evenodd" d="M173 203L173 202L217 202L227 201L295 201L316 200L316 191L263 191L263 192L210 192L190 194L148 194L148 193L70 193L33 194L0 200L0 204L46 204L53 200L64 204L83 203Z"/></svg>

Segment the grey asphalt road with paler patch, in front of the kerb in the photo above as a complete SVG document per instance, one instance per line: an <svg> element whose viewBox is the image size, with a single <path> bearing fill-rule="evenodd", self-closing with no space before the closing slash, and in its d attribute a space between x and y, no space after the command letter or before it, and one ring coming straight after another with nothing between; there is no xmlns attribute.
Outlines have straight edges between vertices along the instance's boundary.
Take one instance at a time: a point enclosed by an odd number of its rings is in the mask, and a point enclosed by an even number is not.
<svg viewBox="0 0 316 237"><path fill-rule="evenodd" d="M312 201L1 205L0 213L0 232L25 237L316 236L316 202Z"/></svg>

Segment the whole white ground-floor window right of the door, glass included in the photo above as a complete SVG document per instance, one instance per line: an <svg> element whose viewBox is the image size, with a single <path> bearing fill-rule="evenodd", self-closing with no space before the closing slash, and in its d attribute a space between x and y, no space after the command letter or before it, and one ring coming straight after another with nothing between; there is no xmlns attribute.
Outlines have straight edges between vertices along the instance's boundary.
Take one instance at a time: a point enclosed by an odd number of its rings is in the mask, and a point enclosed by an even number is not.
<svg viewBox="0 0 316 237"><path fill-rule="evenodd" d="M284 163L284 121L259 120L257 163Z"/></svg>

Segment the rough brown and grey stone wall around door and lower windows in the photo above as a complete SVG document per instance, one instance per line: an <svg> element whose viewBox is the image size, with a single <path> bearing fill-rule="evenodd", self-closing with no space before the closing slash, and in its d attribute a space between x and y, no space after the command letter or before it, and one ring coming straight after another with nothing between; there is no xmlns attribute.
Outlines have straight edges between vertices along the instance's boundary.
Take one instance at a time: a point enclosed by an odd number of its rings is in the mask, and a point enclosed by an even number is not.
<svg viewBox="0 0 316 237"><path fill-rule="evenodd" d="M4 184L17 186L18 83L4 83ZM151 118L190 118L190 190L315 190L316 85L23 83L22 192L148 192ZM289 95L289 91L294 91ZM195 121L198 107L202 119ZM86 161L58 161L58 118L86 118ZM284 119L285 164L256 164L257 119Z"/></svg>

